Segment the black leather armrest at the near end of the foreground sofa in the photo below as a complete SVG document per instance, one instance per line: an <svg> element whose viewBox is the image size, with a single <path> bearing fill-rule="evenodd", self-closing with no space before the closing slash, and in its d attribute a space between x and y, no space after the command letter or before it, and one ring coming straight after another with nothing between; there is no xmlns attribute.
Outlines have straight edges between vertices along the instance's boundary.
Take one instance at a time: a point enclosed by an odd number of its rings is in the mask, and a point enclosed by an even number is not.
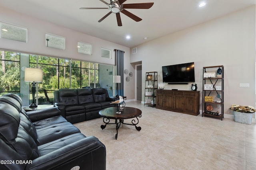
<svg viewBox="0 0 256 170"><path fill-rule="evenodd" d="M80 170L105 170L106 147L96 137L85 137L79 141L40 156L26 166L29 170L60 169L70 170L79 166Z"/></svg>

